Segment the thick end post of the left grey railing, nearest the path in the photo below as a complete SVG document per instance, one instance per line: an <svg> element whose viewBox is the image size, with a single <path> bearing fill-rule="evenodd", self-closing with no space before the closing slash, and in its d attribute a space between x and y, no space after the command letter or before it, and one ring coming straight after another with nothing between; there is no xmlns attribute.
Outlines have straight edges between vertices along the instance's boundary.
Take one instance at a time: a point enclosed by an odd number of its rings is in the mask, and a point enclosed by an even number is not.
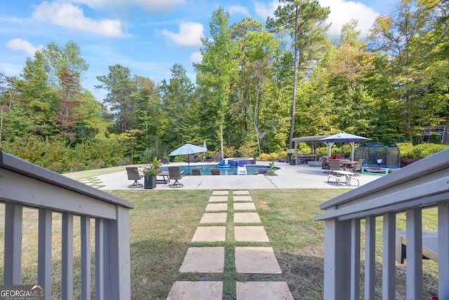
<svg viewBox="0 0 449 300"><path fill-rule="evenodd" d="M107 268L105 281L105 299L130 299L130 241L129 241L129 209L117 206L117 218L105 221L105 253ZM106 279L106 278L105 278Z"/></svg>

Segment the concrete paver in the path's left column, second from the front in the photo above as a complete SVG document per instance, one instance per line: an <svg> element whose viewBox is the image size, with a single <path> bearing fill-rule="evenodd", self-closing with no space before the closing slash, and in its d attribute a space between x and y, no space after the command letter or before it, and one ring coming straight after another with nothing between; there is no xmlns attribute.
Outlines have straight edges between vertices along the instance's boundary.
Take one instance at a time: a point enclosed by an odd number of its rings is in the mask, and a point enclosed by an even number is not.
<svg viewBox="0 0 449 300"><path fill-rule="evenodd" d="M187 249L181 273L222 273L225 266L225 247L192 247Z"/></svg>

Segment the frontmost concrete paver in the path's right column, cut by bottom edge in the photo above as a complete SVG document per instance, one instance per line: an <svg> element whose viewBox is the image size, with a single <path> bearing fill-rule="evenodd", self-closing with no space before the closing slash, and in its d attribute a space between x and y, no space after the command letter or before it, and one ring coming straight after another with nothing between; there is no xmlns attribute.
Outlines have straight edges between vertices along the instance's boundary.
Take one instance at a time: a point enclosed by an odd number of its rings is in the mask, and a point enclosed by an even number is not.
<svg viewBox="0 0 449 300"><path fill-rule="evenodd" d="M236 282L237 300L293 300L287 282Z"/></svg>

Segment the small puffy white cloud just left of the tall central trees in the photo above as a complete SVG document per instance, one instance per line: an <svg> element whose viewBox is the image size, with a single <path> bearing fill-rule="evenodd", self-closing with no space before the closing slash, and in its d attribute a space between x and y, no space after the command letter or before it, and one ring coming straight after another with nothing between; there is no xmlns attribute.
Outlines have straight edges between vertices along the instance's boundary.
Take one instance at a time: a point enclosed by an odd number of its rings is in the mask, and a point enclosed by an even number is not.
<svg viewBox="0 0 449 300"><path fill-rule="evenodd" d="M173 43L182 46L201 46L200 37L203 36L204 27L201 23L180 22L180 32L174 33L168 30L162 30L161 34L167 37Z"/></svg>

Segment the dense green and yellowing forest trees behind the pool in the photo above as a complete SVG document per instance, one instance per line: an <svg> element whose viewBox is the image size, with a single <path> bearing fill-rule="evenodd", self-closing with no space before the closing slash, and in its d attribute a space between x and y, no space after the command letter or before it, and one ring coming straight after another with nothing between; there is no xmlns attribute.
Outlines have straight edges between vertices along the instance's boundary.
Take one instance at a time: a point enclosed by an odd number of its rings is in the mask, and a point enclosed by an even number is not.
<svg viewBox="0 0 449 300"><path fill-rule="evenodd" d="M79 46L50 41L20 77L0 74L0 150L66 172L148 162L203 141L208 157L283 157L295 137L340 131L416 143L424 126L448 124L448 0L398 1L368 37L351 21L338 41L326 37L328 8L280 2L265 24L229 24L218 8L196 82L180 64L159 83L109 66L95 87L107 91L102 103L82 86Z"/></svg>

